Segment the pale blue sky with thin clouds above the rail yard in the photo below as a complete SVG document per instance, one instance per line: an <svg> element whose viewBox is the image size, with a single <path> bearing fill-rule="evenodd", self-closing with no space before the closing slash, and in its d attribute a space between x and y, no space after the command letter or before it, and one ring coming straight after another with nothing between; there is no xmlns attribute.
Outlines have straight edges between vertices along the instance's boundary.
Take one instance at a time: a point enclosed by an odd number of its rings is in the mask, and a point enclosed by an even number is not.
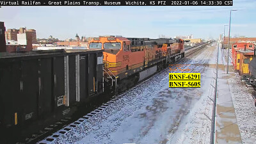
<svg viewBox="0 0 256 144"><path fill-rule="evenodd" d="M79 36L218 38L232 12L231 36L256 37L256 1L233 6L2 6L6 29L36 29L37 38ZM226 26L226 32L228 27ZM227 33L226 33L227 34Z"/></svg>

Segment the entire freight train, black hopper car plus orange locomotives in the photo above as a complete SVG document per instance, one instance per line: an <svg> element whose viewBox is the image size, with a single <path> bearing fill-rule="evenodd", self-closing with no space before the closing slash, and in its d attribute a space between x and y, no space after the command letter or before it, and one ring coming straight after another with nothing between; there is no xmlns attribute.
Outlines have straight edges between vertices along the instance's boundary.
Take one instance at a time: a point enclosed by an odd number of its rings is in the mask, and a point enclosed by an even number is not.
<svg viewBox="0 0 256 144"><path fill-rule="evenodd" d="M184 57L184 40L100 36L88 50L0 53L0 143L72 117ZM83 110L85 111L85 110Z"/></svg>

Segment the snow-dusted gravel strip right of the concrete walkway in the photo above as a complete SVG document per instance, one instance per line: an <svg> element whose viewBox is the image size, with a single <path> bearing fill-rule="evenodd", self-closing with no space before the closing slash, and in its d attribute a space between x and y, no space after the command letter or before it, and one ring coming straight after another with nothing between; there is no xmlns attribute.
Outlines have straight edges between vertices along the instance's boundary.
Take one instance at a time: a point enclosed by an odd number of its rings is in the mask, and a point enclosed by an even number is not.
<svg viewBox="0 0 256 144"><path fill-rule="evenodd" d="M246 87L241 77L228 79L232 99L236 110L237 124L241 132L243 143L255 143L256 141L256 108L252 95L255 93L252 87Z"/></svg>

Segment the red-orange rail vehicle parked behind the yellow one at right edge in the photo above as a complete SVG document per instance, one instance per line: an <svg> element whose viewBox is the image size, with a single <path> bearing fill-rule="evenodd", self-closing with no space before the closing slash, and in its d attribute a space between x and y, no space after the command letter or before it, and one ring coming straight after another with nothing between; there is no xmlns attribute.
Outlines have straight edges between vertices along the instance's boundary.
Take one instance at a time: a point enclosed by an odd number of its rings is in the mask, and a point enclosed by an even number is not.
<svg viewBox="0 0 256 144"><path fill-rule="evenodd" d="M234 70L239 70L239 63L240 63L240 53L237 53L239 50L252 50L254 49L255 44L240 42L232 44L232 63L234 66Z"/></svg>

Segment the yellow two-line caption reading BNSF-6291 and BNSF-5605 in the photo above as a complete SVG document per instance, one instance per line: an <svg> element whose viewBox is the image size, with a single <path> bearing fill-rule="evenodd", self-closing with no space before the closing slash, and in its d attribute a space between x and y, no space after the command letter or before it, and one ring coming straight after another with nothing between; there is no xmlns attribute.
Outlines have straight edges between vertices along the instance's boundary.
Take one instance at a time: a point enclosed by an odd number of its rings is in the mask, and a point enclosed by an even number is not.
<svg viewBox="0 0 256 144"><path fill-rule="evenodd" d="M200 73L170 73L170 88L200 88Z"/></svg>

